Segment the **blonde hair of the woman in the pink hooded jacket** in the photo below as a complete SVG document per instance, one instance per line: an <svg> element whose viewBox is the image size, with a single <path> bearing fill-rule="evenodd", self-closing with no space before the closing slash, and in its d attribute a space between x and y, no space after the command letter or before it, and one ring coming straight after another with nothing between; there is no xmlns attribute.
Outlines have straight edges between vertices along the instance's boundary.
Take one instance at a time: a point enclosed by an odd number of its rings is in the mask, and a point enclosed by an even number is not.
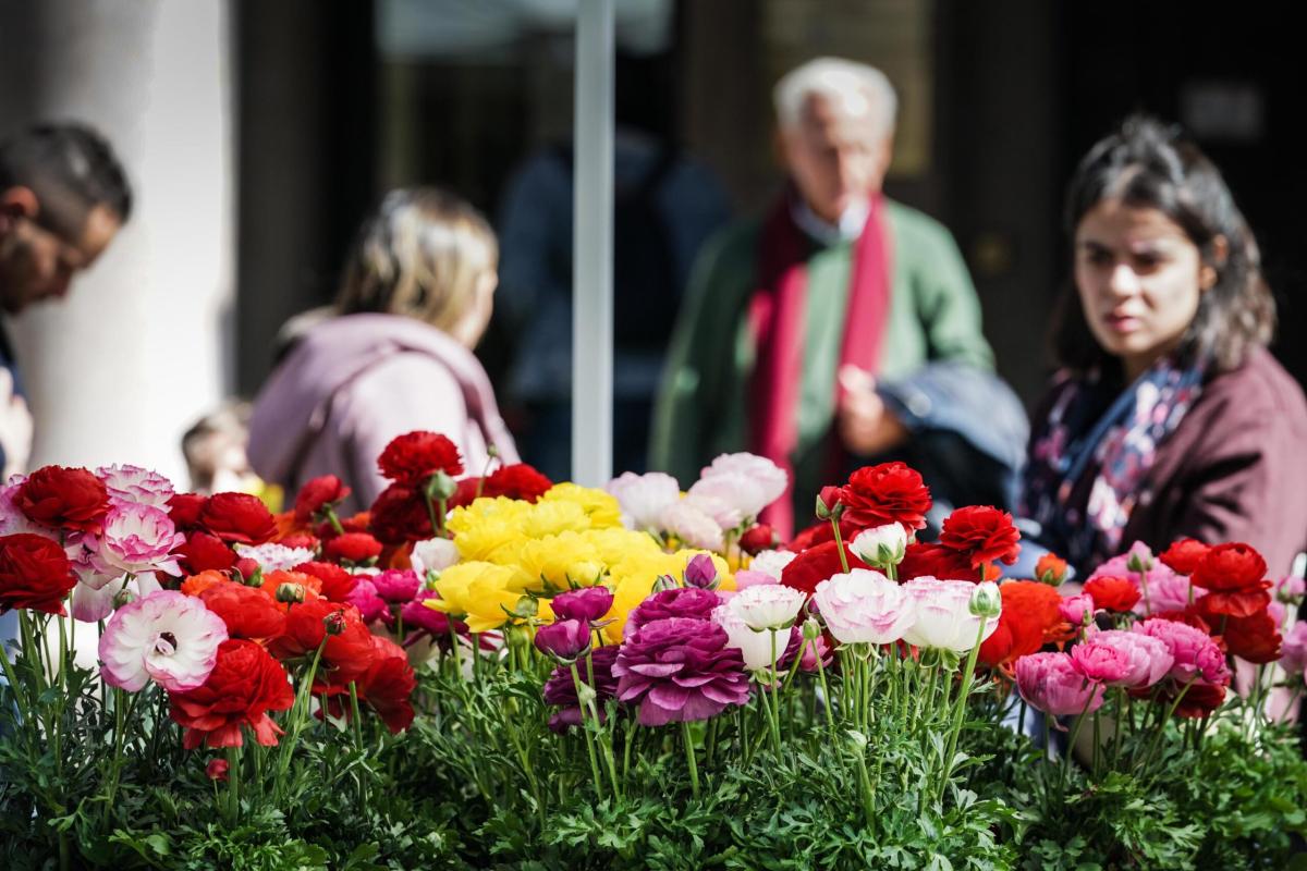
<svg viewBox="0 0 1307 871"><path fill-rule="evenodd" d="M439 188L391 191L359 230L336 308L404 315L448 330L498 260L490 225L460 197Z"/></svg>

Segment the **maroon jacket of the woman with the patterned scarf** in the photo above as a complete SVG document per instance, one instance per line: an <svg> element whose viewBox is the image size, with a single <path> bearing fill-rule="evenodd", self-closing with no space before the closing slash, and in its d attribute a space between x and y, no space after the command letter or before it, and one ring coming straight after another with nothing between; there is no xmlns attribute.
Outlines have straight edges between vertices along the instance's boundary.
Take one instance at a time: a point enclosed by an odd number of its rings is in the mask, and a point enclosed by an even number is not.
<svg viewBox="0 0 1307 871"><path fill-rule="evenodd" d="M1307 401L1265 350L1212 379L1158 445L1123 542L1247 542L1270 576L1307 550Z"/></svg>

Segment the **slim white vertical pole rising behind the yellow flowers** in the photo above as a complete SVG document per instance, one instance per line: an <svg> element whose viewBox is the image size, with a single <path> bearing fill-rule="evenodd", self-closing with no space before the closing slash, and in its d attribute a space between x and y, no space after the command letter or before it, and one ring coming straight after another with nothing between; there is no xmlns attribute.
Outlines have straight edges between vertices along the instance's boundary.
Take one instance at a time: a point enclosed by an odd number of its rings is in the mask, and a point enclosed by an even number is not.
<svg viewBox="0 0 1307 871"><path fill-rule="evenodd" d="M572 481L613 473L613 0L576 17Z"/></svg>

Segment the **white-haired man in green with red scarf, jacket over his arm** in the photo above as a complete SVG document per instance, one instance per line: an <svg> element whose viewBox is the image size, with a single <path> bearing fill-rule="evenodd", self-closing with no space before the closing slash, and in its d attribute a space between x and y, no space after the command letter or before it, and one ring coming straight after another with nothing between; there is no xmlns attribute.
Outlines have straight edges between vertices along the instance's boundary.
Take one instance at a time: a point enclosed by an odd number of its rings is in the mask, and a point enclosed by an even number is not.
<svg viewBox="0 0 1307 871"><path fill-rule="evenodd" d="M826 57L782 78L775 104L789 183L762 221L728 229L699 255L651 467L687 483L723 452L771 458L793 482L765 516L782 535L812 520L821 486L885 458L912 462L946 491L979 448L999 483L966 496L1006 501L1025 417L988 373L966 265L948 230L881 193L894 89L872 67ZM996 404L997 437L971 432L984 418L963 420L959 394Z"/></svg>

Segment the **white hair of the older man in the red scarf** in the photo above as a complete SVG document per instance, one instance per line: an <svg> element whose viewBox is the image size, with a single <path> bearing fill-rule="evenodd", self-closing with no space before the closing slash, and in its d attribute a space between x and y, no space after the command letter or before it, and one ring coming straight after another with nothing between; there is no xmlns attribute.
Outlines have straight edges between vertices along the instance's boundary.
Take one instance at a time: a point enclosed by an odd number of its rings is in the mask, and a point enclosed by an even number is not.
<svg viewBox="0 0 1307 871"><path fill-rule="evenodd" d="M771 93L782 129L802 119L804 106L812 97L838 101L844 111L877 112L877 127L889 136L898 114L898 95L885 73L842 57L817 57L786 73Z"/></svg>

